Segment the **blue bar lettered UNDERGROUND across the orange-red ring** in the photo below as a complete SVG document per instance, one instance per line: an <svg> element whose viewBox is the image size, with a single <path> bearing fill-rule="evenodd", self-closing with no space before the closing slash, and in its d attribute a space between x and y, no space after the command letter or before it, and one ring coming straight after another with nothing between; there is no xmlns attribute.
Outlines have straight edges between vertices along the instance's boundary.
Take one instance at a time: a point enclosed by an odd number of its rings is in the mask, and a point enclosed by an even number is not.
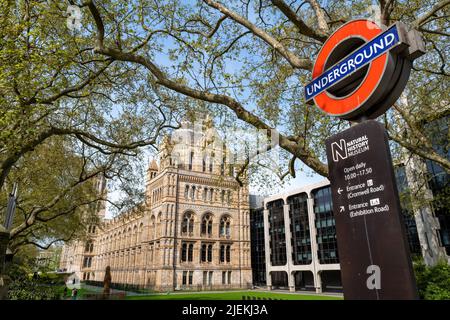
<svg viewBox="0 0 450 320"><path fill-rule="evenodd" d="M365 45L356 49L305 86L305 99L311 100L332 85L345 79L354 71L379 57L400 42L397 25L376 36Z"/></svg>

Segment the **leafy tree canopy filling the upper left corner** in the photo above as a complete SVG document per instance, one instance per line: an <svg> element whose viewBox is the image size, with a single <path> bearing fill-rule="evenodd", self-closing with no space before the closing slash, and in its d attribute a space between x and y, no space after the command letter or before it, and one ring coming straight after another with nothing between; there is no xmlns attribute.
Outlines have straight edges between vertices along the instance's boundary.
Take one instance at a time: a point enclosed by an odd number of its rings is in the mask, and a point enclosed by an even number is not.
<svg viewBox="0 0 450 320"><path fill-rule="evenodd" d="M166 97L139 85L139 68L97 57L90 39L68 28L66 10L60 1L0 1L0 188L51 137L136 155L176 125Z"/></svg>

